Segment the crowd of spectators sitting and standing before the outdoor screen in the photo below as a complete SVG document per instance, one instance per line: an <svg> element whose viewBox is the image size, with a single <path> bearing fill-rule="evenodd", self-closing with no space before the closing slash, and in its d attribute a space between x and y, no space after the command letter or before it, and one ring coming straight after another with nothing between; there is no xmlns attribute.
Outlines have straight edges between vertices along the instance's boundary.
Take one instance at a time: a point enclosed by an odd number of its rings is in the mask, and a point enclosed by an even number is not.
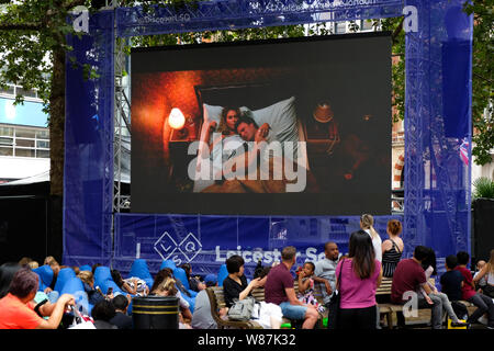
<svg viewBox="0 0 494 351"><path fill-rule="evenodd" d="M251 296L256 288L263 287L265 301L256 304L251 318L267 329L279 329L283 317L295 324L299 321L303 329L314 328L321 313L334 308L330 302L335 292L340 298L339 329L379 329L382 326L379 303L405 305L411 298L416 308L431 309L433 329L444 328L445 316L453 327L484 324L494 328L494 250L487 261L476 263L474 275L468 269L468 252L448 256L446 273L438 279L438 290L433 283L437 275L435 251L417 246L413 257L405 259L402 257L404 242L400 238L402 224L396 219L389 220L385 240L373 225L371 215L361 216L361 229L351 234L347 254L341 254L337 244L329 241L324 247L322 260L307 261L295 269L296 249L288 246L281 251L281 262L270 267L258 264L251 280L245 275L244 258L228 257L225 261L228 275L221 282L226 307L218 310L218 315L228 318L228 308ZM0 329L56 329L75 325L75 296L60 295L55 288L57 275L67 267L53 257L47 257L43 265L53 272L52 281L45 282L43 274L36 273L40 264L29 258L0 267ZM94 272L100 265L94 264L90 270L71 268L93 306L90 313L82 314L82 318L94 328L134 328L130 312L133 296L176 297L180 328L217 328L206 293L207 287L218 285L216 274L192 276L192 268L186 263L180 268L187 274L187 282L175 276L171 268L162 268L148 286L141 278L123 279L119 271L112 270L111 278L122 293L111 290L103 293L94 286ZM294 275L292 269L295 269ZM383 278L392 279L391 295L377 298ZM316 287L322 294L319 301L315 297ZM469 314L462 301L475 306L473 313ZM403 325L403 314L397 315L398 325Z"/></svg>

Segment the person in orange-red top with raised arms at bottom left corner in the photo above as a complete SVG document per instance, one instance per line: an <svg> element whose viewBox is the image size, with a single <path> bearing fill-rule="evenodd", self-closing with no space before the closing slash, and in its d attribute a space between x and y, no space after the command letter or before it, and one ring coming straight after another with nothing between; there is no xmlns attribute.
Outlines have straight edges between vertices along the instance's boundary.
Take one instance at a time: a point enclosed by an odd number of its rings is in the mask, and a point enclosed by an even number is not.
<svg viewBox="0 0 494 351"><path fill-rule="evenodd" d="M0 329L56 329L72 295L61 295L48 319L40 317L32 303L38 287L37 274L29 268L20 269L13 276L9 293L0 299Z"/></svg>

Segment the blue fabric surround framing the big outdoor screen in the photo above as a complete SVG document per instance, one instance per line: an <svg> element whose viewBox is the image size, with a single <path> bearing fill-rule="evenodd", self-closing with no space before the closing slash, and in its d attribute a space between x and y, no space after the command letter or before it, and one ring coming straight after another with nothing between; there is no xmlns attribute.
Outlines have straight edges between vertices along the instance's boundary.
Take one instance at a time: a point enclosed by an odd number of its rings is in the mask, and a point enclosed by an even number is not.
<svg viewBox="0 0 494 351"><path fill-rule="evenodd" d="M142 258L156 273L168 259L191 262L194 273L206 274L216 273L227 254L239 252L251 273L259 258L269 264L285 245L299 249L299 263L321 256L328 240L346 252L358 217L112 213L114 39L402 14L407 29L405 213L394 218L404 224L407 257L417 245L433 247L439 261L470 251L472 18L461 12L462 2L215 0L151 14L141 8L91 14L89 35L69 38L71 55L99 77L85 80L82 68L68 61L63 262L128 272ZM375 218L382 238L391 217Z"/></svg>

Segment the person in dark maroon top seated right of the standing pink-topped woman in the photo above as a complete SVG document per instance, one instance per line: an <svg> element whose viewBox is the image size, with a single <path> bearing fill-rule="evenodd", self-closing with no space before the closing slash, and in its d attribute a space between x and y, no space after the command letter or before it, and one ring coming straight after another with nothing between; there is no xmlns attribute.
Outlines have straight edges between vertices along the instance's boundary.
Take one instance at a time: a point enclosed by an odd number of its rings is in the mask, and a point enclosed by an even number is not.
<svg viewBox="0 0 494 351"><path fill-rule="evenodd" d="M438 296L430 294L430 287L422 268L422 262L427 258L428 253L428 248L417 246L412 259L404 259L398 262L391 285L391 302L393 304L404 304L407 302L407 298L415 296L418 308L433 308L433 329L442 329L442 301ZM427 303L423 294L416 293L419 287L423 287L429 295L433 301L431 305ZM409 293L411 295L408 295Z"/></svg>

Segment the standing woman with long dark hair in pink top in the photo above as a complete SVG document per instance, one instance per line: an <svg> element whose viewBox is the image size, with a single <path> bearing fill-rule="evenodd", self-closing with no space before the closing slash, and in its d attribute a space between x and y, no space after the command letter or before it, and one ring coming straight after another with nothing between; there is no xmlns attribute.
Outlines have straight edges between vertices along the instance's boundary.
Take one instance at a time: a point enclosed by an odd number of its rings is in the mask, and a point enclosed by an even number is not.
<svg viewBox="0 0 494 351"><path fill-rule="evenodd" d="M375 259L370 236L355 231L350 236L348 258L336 268L340 293L338 329L375 329L375 291L381 284L381 262Z"/></svg>

